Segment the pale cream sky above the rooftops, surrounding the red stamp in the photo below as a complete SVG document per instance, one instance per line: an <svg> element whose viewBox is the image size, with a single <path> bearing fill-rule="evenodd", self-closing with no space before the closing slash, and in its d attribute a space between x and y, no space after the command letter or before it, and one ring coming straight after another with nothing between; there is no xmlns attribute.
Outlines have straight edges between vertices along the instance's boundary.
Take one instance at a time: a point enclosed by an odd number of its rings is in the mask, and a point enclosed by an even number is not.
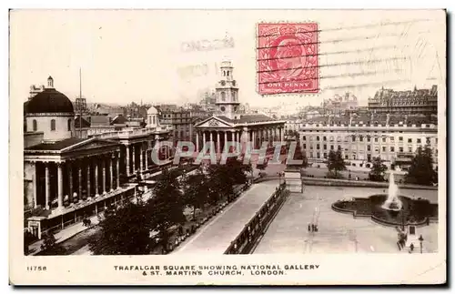
<svg viewBox="0 0 455 294"><path fill-rule="evenodd" d="M319 25L318 95L259 96L257 25ZM227 47L196 50L195 44ZM10 16L10 96L54 77L58 91L87 102L196 103L231 60L239 100L250 106L318 106L351 92L366 105L381 87L445 84L442 11L14 10Z"/></svg>

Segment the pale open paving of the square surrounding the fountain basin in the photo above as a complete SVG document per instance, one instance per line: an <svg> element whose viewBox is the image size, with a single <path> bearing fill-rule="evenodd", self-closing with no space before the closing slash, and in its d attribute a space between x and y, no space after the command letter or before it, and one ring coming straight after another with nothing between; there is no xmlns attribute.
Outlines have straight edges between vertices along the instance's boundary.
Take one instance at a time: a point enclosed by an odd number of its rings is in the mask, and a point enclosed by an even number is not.
<svg viewBox="0 0 455 294"><path fill-rule="evenodd" d="M291 193L279 210L255 254L268 253L397 253L397 230L383 227L370 218L353 218L331 209L340 198L368 197L383 188L306 186L303 193ZM428 198L437 203L438 191L400 189L400 195ZM318 232L308 232L308 223L318 224ZM425 242L424 252L438 249L438 224L417 228Z"/></svg>

